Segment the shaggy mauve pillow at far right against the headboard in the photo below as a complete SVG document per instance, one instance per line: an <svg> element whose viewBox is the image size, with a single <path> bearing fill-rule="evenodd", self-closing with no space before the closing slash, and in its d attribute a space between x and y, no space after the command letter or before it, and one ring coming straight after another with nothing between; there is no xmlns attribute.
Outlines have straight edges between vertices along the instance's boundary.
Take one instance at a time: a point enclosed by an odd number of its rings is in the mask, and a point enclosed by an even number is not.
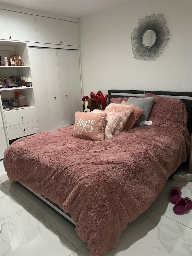
<svg viewBox="0 0 192 256"><path fill-rule="evenodd" d="M182 100L161 97L152 93L147 93L145 97L154 98L154 105L149 117L187 125L188 113Z"/></svg>

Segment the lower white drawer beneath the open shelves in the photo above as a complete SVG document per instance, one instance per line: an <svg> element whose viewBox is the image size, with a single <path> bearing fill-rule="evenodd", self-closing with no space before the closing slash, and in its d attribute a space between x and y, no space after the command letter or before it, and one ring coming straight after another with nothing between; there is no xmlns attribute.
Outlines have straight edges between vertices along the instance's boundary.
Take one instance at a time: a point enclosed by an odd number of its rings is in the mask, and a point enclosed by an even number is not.
<svg viewBox="0 0 192 256"><path fill-rule="evenodd" d="M13 140L16 138L34 134L34 133L37 133L38 131L39 131L39 129L38 129L37 121L24 123L22 125L14 125L14 126L7 127L7 133L8 133L9 140Z"/></svg>

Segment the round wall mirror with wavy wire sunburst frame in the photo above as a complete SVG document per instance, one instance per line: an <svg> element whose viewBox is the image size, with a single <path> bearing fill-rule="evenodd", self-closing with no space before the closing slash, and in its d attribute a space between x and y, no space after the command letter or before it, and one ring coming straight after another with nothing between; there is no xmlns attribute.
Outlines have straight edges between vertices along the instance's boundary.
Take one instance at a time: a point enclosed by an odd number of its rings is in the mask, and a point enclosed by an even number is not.
<svg viewBox="0 0 192 256"><path fill-rule="evenodd" d="M136 59L154 60L170 39L162 14L140 18L131 34L132 51Z"/></svg>

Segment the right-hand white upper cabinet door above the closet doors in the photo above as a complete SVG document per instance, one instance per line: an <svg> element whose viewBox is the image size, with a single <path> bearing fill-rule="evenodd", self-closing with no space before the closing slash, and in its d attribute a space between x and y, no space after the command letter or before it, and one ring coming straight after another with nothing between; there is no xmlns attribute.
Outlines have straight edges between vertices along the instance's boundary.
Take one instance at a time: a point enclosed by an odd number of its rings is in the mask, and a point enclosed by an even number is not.
<svg viewBox="0 0 192 256"><path fill-rule="evenodd" d="M35 16L39 43L79 46L79 24Z"/></svg>

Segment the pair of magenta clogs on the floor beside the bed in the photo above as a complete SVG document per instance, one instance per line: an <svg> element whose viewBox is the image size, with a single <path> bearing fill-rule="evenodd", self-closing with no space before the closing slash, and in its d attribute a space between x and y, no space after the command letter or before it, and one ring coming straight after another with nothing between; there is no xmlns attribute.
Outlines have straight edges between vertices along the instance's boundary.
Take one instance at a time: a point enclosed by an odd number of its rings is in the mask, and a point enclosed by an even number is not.
<svg viewBox="0 0 192 256"><path fill-rule="evenodd" d="M181 189L179 187L174 187L170 190L169 198L171 203L175 204L173 212L176 214L182 214L192 207L192 201L189 197L181 198Z"/></svg>

